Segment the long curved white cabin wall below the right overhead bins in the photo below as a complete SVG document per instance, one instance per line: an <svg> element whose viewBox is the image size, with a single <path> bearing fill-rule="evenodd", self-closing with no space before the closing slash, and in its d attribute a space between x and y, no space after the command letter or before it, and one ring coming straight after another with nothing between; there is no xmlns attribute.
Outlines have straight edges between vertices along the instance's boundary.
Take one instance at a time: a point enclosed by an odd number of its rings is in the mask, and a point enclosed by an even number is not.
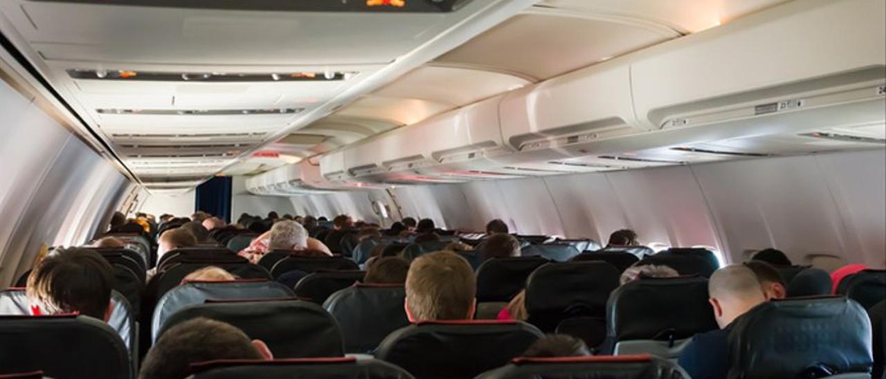
<svg viewBox="0 0 886 379"><path fill-rule="evenodd" d="M501 218L521 234L592 237L633 228L646 244L706 245L740 262L777 247L886 267L886 153L843 152L609 173L392 190L404 216L482 230ZM296 212L378 222L384 191L292 197ZM818 262L816 262L818 263Z"/></svg>

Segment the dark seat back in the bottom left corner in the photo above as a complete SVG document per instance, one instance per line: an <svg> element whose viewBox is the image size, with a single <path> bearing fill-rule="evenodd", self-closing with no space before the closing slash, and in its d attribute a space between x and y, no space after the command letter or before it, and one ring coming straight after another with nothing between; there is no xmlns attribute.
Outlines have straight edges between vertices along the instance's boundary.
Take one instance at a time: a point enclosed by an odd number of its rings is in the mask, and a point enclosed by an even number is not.
<svg viewBox="0 0 886 379"><path fill-rule="evenodd" d="M88 316L0 316L0 374L43 370L58 378L128 378L123 340Z"/></svg>

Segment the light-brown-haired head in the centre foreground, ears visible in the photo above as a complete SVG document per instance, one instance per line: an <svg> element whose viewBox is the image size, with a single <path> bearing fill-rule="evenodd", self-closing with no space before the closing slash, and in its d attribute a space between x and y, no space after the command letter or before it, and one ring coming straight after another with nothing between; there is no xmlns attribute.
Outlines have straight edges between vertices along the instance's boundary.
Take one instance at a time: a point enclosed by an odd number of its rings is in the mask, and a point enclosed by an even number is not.
<svg viewBox="0 0 886 379"><path fill-rule="evenodd" d="M410 321L470 320L477 281L467 260L449 251L412 261L406 276L406 313Z"/></svg>

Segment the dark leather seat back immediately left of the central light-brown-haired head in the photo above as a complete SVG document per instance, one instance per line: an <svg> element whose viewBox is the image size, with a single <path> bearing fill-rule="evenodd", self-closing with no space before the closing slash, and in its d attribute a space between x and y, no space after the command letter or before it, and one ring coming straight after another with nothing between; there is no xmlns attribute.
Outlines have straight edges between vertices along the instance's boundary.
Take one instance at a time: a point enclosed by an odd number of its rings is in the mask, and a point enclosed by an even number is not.
<svg viewBox="0 0 886 379"><path fill-rule="evenodd" d="M346 352L369 352L385 336L409 325L402 285L355 284L333 293L323 308L338 321Z"/></svg>

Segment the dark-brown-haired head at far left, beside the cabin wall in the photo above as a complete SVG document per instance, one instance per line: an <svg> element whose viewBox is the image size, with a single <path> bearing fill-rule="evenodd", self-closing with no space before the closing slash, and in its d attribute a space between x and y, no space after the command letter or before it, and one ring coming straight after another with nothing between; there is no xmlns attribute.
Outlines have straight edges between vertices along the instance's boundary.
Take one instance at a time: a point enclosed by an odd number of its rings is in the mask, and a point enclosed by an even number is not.
<svg viewBox="0 0 886 379"><path fill-rule="evenodd" d="M27 277L27 298L41 314L81 313L107 321L113 280L113 268L96 251L59 249Z"/></svg>

